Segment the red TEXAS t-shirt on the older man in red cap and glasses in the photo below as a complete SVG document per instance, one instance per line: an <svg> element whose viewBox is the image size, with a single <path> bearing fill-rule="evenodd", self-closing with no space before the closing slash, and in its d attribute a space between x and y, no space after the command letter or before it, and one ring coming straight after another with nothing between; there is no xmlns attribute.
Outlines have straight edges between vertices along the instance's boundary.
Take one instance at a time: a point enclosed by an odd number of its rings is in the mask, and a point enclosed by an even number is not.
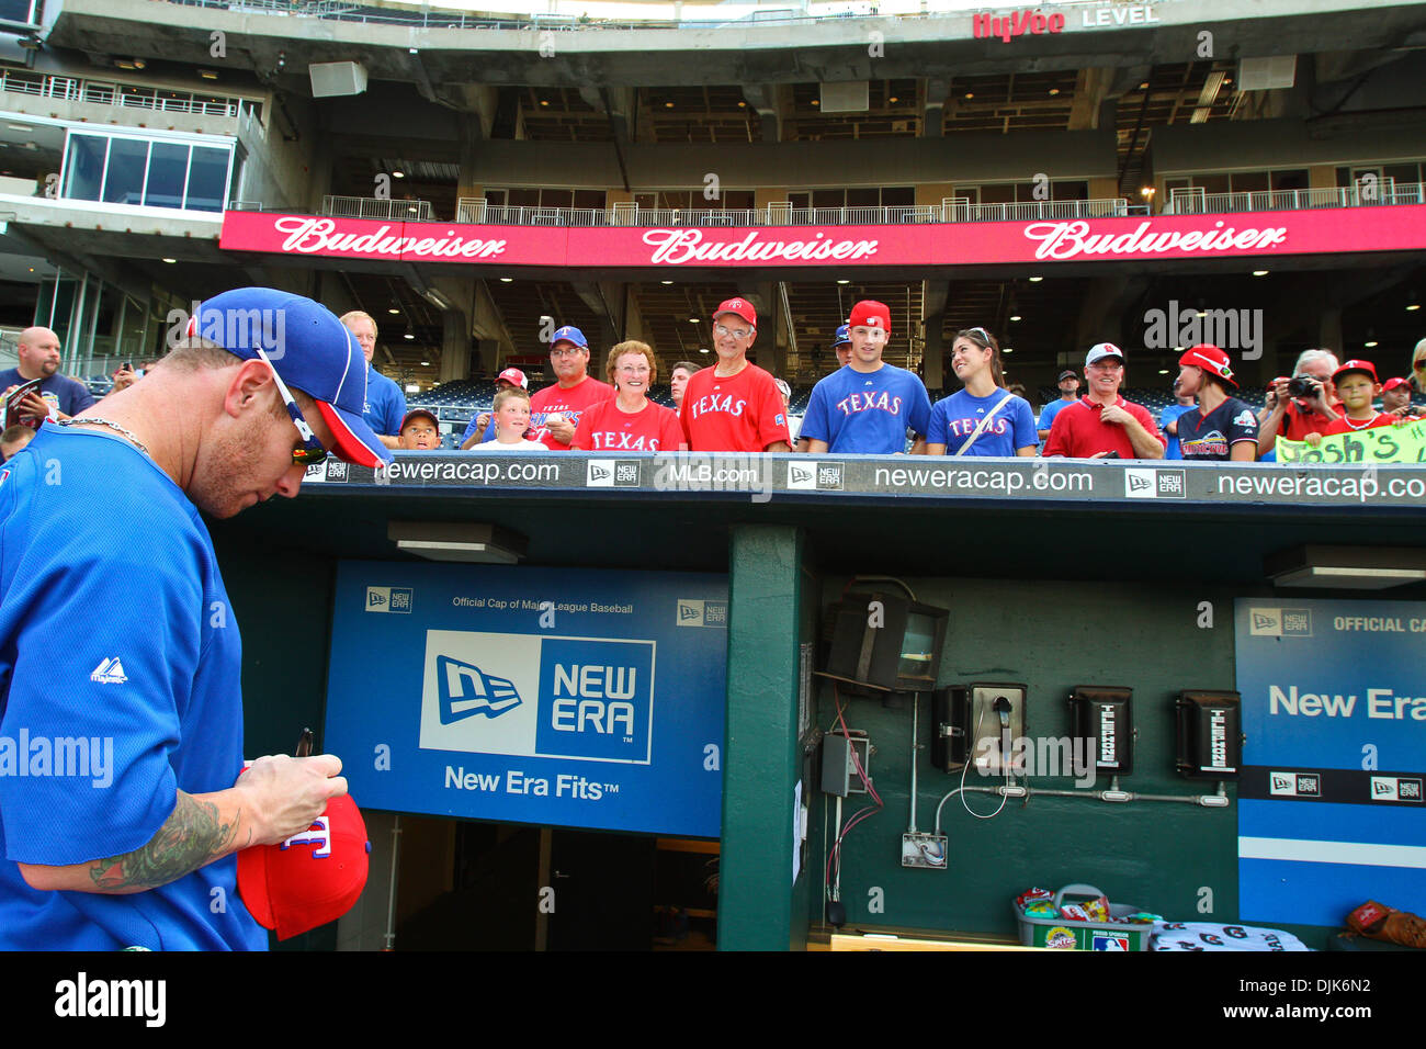
<svg viewBox="0 0 1426 1049"><path fill-rule="evenodd" d="M749 364L719 378L703 368L683 388L683 434L692 451L763 451L776 441L791 444L787 408L773 377Z"/></svg>

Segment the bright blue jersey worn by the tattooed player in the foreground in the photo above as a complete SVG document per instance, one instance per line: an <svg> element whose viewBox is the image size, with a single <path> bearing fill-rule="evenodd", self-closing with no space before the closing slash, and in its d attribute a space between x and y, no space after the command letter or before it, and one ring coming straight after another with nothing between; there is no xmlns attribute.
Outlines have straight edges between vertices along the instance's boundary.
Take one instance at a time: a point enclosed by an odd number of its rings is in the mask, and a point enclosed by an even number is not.
<svg viewBox="0 0 1426 1049"><path fill-rule="evenodd" d="M131 852L177 791L232 786L241 658L208 529L153 460L46 424L0 468L0 949L267 949L231 855L131 895L17 866Z"/></svg>

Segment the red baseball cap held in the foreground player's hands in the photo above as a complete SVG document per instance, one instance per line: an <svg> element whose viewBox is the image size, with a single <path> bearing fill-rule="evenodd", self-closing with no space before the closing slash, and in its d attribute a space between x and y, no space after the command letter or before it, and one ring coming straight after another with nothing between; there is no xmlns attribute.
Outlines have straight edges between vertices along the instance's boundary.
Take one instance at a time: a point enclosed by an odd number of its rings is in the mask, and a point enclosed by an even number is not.
<svg viewBox="0 0 1426 1049"><path fill-rule="evenodd" d="M258 925L288 939L352 909L366 888L369 852L361 809L339 794L302 833L238 852L238 895Z"/></svg>

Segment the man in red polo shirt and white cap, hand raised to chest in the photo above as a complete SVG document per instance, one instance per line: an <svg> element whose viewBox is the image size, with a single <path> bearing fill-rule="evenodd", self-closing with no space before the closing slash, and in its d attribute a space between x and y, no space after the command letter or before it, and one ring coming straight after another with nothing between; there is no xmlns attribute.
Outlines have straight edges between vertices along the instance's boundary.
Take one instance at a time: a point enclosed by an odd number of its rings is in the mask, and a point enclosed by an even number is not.
<svg viewBox="0 0 1426 1049"><path fill-rule="evenodd" d="M1088 392L1055 415L1045 455L1161 460L1168 444L1142 404L1119 397L1124 351L1099 343L1084 358Z"/></svg>

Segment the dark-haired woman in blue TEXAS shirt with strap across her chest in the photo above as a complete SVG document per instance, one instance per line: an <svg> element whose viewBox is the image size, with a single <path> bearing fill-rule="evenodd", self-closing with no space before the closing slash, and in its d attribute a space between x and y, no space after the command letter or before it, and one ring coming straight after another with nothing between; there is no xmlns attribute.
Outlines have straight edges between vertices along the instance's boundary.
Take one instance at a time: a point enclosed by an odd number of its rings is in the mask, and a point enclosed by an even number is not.
<svg viewBox="0 0 1426 1049"><path fill-rule="evenodd" d="M964 384L931 408L927 455L1034 455L1040 442L1030 402L1002 388L1000 344L985 328L955 333L951 368Z"/></svg>

